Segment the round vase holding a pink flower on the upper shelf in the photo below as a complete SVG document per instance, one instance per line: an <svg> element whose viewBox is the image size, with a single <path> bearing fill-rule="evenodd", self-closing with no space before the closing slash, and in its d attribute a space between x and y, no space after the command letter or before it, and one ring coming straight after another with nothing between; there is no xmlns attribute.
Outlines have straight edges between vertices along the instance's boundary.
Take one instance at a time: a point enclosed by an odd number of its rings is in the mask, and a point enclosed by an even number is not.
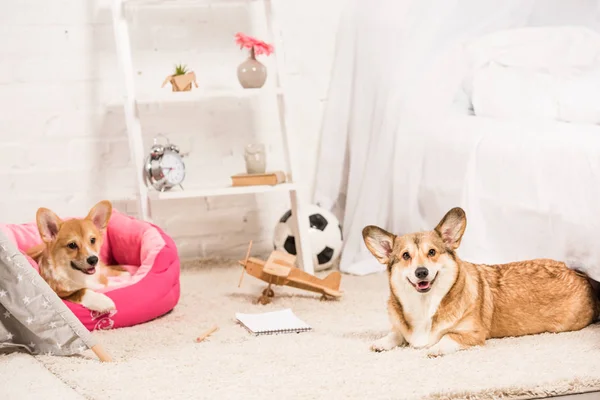
<svg viewBox="0 0 600 400"><path fill-rule="evenodd" d="M240 49L249 49L248 59L237 69L238 80L244 89L261 88L267 80L267 68L256 59L256 56L271 55L273 46L243 33L235 34L235 42Z"/></svg>

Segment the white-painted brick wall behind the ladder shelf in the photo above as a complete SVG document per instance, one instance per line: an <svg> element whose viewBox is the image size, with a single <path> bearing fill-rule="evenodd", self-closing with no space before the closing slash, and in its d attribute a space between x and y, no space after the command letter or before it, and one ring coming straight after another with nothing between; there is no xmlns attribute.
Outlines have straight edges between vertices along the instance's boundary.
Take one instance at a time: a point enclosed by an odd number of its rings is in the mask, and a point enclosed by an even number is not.
<svg viewBox="0 0 600 400"><path fill-rule="evenodd" d="M218 1L218 0L216 0ZM286 44L288 115L297 178L312 185L323 101L344 0L275 0ZM108 198L133 192L120 98L110 0L19 0L0 13L0 222L32 221L38 207L82 215ZM140 95L160 89L175 63L185 63L202 88L236 88L246 54L238 32L265 38L260 8L139 9L133 17ZM272 60L262 59L269 68ZM186 187L229 182L244 169L243 145L268 144L269 168L281 168L275 103L214 99L142 104L146 146L164 133L183 151ZM285 194L153 203L156 222L182 257L240 257L249 239L269 249L273 225L288 207Z"/></svg>

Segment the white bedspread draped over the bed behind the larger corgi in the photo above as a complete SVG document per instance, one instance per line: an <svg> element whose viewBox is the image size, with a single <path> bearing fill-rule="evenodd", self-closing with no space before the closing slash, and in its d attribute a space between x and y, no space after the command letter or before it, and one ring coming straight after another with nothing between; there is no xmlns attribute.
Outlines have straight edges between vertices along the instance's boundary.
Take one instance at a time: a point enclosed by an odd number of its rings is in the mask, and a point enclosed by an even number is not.
<svg viewBox="0 0 600 400"><path fill-rule="evenodd" d="M468 115L411 125L396 143L394 232L431 229L459 205L464 259L556 258L600 280L599 125Z"/></svg>

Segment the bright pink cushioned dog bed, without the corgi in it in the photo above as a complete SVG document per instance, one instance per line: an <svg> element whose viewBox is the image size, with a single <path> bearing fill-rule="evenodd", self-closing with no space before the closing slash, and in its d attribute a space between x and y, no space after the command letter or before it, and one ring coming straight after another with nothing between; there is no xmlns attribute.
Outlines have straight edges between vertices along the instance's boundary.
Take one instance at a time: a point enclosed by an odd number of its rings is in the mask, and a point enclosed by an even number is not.
<svg viewBox="0 0 600 400"><path fill-rule="evenodd" d="M0 229L23 253L41 243L35 222L0 225ZM37 263L27 259L39 272ZM100 259L108 265L122 265L132 276L111 278L110 289L104 290L115 302L114 311L101 314L63 300L90 331L150 321L171 311L179 301L177 247L159 227L113 210Z"/></svg>

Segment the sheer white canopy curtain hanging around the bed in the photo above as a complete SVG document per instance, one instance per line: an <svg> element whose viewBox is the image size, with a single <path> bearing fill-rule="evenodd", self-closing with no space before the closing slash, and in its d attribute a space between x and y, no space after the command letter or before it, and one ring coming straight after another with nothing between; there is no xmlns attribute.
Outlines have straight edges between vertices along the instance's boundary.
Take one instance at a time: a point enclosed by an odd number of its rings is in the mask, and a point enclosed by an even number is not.
<svg viewBox="0 0 600 400"><path fill-rule="evenodd" d="M411 142L415 132L405 129L405 121L449 112L464 73L455 49L506 28L597 27L599 10L597 0L349 0L338 33L313 199L342 221L343 272L383 269L364 246L364 226L406 233L431 229L442 217L422 217L418 183L428 149L422 141Z"/></svg>

